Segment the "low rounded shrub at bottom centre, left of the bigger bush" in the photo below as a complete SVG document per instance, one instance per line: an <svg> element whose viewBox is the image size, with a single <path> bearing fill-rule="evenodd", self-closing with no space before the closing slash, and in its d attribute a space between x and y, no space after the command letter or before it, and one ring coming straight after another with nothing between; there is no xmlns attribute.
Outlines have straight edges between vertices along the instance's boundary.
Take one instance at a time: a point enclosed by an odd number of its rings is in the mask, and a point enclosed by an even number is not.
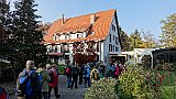
<svg viewBox="0 0 176 99"><path fill-rule="evenodd" d="M87 90L85 99L117 99L114 86L117 80L113 78L102 78L92 84Z"/></svg>

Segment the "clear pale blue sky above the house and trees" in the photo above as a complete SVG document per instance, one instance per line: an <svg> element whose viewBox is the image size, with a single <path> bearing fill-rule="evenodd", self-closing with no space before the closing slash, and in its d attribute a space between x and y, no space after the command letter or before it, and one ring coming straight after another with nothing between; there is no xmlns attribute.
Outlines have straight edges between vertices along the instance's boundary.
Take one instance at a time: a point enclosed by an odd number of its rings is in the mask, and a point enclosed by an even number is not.
<svg viewBox="0 0 176 99"><path fill-rule="evenodd" d="M12 0L13 1L13 0ZM35 0L42 22L117 9L118 20L128 34L151 31L155 37L162 33L161 20L176 13L176 0Z"/></svg>

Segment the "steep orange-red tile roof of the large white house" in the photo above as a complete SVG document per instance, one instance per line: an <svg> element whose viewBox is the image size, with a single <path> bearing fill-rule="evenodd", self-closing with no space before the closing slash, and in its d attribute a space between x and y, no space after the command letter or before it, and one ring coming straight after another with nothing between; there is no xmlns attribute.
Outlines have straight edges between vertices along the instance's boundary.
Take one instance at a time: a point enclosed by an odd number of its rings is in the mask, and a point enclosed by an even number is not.
<svg viewBox="0 0 176 99"><path fill-rule="evenodd" d="M97 13L90 13L86 15L75 16L65 19L64 24L62 25L62 19L55 21L52 26L48 29L47 35L44 36L45 43L64 43L64 42L80 42L80 41L95 41L95 40L105 40L109 33L110 24L112 18L114 16L116 10L100 11ZM96 21L90 24L90 15L96 15ZM75 40L58 40L53 41L53 34L63 34L70 32L84 32L90 29L95 32L94 35L89 34L86 38L75 38Z"/></svg>

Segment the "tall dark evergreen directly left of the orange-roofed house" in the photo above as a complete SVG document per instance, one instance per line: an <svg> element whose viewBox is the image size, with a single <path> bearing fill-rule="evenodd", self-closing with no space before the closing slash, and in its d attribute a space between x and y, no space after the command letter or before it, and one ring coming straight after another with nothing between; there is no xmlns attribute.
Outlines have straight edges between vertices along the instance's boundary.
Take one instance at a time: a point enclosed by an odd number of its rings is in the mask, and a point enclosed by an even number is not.
<svg viewBox="0 0 176 99"><path fill-rule="evenodd" d="M35 63L46 62L46 47L43 42L43 31L38 30L37 21L40 15L36 15L35 9L37 4L34 0L19 0L14 2L13 13L13 36L15 37L15 57L19 65L25 66L28 59L33 59Z"/></svg>

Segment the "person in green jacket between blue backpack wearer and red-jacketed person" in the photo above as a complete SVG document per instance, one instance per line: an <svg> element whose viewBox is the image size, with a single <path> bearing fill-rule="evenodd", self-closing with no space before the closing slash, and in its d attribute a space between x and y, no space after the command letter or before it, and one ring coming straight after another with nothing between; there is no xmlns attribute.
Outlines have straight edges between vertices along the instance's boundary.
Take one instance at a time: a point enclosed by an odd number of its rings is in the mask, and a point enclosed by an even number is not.
<svg viewBox="0 0 176 99"><path fill-rule="evenodd" d="M40 65L37 70L40 80L42 82L42 95L44 99L48 99L48 82L51 82L51 77L48 72L45 69L44 65Z"/></svg>

